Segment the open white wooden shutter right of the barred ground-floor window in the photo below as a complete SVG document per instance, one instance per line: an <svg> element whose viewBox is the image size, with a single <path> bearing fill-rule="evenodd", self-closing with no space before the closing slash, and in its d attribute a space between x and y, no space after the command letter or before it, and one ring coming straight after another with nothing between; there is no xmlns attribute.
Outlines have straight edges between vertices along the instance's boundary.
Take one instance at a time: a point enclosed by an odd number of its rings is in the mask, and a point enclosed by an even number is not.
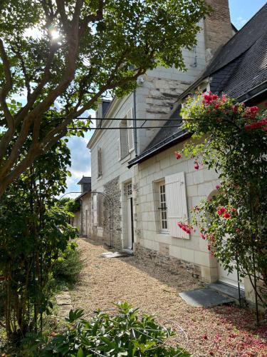
<svg viewBox="0 0 267 357"><path fill-rule="evenodd" d="M187 192L184 172L165 177L169 235L189 239L190 235L177 226L188 218Z"/></svg>

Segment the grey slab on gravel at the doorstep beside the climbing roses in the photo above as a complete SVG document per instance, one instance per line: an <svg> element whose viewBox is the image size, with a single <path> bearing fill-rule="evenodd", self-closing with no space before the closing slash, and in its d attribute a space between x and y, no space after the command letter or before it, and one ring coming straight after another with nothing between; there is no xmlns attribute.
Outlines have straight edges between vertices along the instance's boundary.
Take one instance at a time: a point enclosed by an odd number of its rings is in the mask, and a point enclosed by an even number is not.
<svg viewBox="0 0 267 357"><path fill-rule="evenodd" d="M233 303L234 298L229 298L211 288L182 291L179 296L190 306L210 308L212 306Z"/></svg>

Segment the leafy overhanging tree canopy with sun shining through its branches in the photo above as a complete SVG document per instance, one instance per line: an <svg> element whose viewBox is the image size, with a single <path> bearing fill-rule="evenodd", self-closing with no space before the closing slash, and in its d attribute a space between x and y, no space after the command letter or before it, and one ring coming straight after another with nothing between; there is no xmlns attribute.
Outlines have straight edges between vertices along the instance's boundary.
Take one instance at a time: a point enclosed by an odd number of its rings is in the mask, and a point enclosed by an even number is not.
<svg viewBox="0 0 267 357"><path fill-rule="evenodd" d="M182 48L210 11L204 0L2 0L0 10L0 196L101 96L130 93L158 64L184 70Z"/></svg>

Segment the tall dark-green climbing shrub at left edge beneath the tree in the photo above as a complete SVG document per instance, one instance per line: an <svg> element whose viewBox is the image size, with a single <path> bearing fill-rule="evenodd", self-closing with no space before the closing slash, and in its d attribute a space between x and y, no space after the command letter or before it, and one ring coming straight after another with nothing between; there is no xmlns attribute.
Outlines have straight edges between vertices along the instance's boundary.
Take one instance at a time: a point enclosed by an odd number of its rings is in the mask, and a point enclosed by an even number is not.
<svg viewBox="0 0 267 357"><path fill-rule="evenodd" d="M21 338L50 313L53 265L75 238L70 213L56 206L70 152L63 141L36 160L0 201L0 271L6 333Z"/></svg>

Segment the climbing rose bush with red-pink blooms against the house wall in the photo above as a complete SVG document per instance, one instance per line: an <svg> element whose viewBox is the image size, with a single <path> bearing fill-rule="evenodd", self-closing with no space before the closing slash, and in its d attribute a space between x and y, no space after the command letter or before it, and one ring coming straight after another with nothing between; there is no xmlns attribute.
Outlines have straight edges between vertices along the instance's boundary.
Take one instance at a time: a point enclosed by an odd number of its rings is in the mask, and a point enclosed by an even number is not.
<svg viewBox="0 0 267 357"><path fill-rule="evenodd" d="M198 144L187 144L182 154L215 169L221 181L214 196L193 209L192 223L224 268L232 271L235 261L252 284L256 269L267 286L266 111L211 92L195 105L189 99L184 111L184 126ZM258 291L261 301L263 295Z"/></svg>

